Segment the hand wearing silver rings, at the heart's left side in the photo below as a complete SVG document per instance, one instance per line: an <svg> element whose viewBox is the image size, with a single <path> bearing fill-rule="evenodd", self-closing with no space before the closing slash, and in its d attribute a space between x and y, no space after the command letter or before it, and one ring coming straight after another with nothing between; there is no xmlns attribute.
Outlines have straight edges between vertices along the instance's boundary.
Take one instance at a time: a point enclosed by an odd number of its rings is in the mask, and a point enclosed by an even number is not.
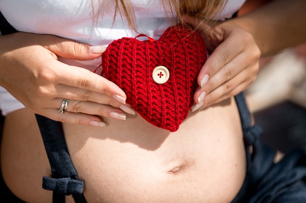
<svg viewBox="0 0 306 203"><path fill-rule="evenodd" d="M0 47L0 85L30 111L56 121L94 126L105 126L97 115L125 119L124 111L134 114L125 104L126 94L114 83L57 60L58 56L94 59L104 47L91 49L60 37L30 33L0 36ZM64 98L70 102L60 113Z"/></svg>

